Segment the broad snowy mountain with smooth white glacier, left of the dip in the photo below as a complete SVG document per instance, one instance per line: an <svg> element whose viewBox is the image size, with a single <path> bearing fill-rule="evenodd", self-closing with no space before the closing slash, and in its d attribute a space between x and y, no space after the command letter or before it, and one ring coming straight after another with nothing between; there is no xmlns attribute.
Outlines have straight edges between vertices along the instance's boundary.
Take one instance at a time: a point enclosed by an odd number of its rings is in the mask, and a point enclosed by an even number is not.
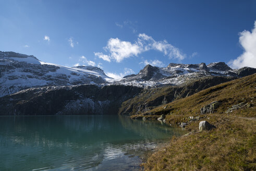
<svg viewBox="0 0 256 171"><path fill-rule="evenodd" d="M0 51L0 96L32 87L102 84L111 79L97 67L70 68L41 62L32 55Z"/></svg>

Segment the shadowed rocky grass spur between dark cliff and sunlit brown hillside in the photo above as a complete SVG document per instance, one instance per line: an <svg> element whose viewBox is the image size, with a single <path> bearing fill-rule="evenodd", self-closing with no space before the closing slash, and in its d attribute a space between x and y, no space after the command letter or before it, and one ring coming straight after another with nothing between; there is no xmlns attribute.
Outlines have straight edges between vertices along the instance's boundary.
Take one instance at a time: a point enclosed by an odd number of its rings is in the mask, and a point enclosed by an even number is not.
<svg viewBox="0 0 256 171"><path fill-rule="evenodd" d="M200 77L189 79L179 86L164 86L160 88L144 89L139 95L129 99L119 108L119 114L141 114L156 106L162 105L163 100L169 103L182 99L201 90L217 84L235 79L234 77Z"/></svg>

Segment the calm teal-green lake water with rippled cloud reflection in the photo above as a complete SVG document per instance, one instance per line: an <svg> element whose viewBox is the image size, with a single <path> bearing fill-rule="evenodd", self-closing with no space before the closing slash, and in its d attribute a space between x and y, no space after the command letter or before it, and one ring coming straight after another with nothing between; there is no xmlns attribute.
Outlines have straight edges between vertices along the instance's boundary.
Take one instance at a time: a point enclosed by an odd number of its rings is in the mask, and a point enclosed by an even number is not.
<svg viewBox="0 0 256 171"><path fill-rule="evenodd" d="M116 115L2 116L0 170L138 170L180 128Z"/></svg>

